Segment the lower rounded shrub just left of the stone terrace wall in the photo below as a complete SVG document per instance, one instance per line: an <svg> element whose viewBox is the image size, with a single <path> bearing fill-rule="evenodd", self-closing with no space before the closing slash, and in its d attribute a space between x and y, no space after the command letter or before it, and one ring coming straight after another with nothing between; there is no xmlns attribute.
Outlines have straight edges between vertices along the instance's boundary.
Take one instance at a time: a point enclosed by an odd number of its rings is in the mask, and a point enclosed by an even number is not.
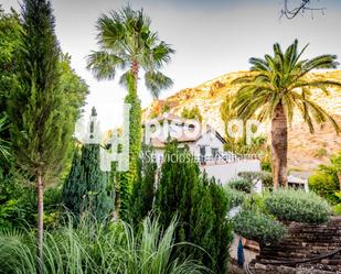
<svg viewBox="0 0 341 274"><path fill-rule="evenodd" d="M258 211L243 210L233 219L234 231L260 246L280 242L287 229L273 217Z"/></svg>

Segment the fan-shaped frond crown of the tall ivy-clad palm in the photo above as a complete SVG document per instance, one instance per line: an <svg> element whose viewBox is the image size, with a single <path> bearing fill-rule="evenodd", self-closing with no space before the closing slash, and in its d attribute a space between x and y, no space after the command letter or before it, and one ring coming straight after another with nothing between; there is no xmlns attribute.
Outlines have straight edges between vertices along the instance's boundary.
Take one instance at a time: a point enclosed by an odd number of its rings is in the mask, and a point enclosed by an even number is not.
<svg viewBox="0 0 341 274"><path fill-rule="evenodd" d="M113 79L118 68L130 67L131 73L137 74L141 67L153 98L158 98L161 89L171 86L172 80L160 69L174 51L151 31L150 22L142 9L135 11L130 6L98 19L97 42L102 50L88 56L88 68L98 79ZM124 85L127 84L126 74L120 79Z"/></svg>

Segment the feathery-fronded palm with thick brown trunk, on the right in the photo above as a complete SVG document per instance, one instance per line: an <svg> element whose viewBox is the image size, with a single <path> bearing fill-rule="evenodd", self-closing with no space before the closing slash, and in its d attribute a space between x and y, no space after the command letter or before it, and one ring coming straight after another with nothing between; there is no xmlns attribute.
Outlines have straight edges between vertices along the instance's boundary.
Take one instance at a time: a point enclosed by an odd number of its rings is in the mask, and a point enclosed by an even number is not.
<svg viewBox="0 0 341 274"><path fill-rule="evenodd" d="M307 45L308 46L308 45ZM301 59L307 48L298 51L296 40L285 52L274 45L274 56L251 58L251 73L233 81L241 85L234 107L241 119L257 114L259 121L271 121L271 153L274 188L287 186L288 122L298 109L313 133L313 121L318 124L331 122L337 133L340 128L335 120L311 99L310 88L329 95L329 87L341 87L338 81L323 77L311 77L309 73L319 68L337 68L335 55L321 55Z"/></svg>

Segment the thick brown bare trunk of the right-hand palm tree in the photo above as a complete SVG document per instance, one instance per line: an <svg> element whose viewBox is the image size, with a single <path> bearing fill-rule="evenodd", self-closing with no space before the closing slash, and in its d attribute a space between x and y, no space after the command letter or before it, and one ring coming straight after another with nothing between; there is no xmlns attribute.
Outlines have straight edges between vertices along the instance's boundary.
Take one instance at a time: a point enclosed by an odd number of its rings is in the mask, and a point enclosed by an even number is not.
<svg viewBox="0 0 341 274"><path fill-rule="evenodd" d="M274 190L276 191L278 187L288 187L288 128L287 116L281 102L277 105L271 121L271 146Z"/></svg>

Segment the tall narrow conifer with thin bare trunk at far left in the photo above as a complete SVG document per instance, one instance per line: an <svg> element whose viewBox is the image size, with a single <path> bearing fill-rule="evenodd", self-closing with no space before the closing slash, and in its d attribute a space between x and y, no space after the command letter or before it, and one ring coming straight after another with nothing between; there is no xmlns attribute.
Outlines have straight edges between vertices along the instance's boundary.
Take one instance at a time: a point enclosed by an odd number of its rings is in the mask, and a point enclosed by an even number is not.
<svg viewBox="0 0 341 274"><path fill-rule="evenodd" d="M62 169L73 133L66 91L60 85L60 47L51 2L24 0L18 52L18 86L8 114L15 164L35 179L38 242L43 257L44 187Z"/></svg>

